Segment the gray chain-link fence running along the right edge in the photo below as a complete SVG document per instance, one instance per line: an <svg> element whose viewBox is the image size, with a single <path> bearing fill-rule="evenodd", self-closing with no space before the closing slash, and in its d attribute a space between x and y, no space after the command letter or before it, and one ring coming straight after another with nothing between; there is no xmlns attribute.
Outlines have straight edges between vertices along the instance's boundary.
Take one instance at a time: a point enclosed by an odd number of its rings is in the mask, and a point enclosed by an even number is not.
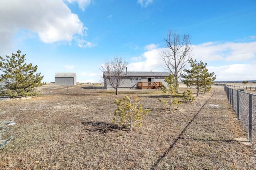
<svg viewBox="0 0 256 170"><path fill-rule="evenodd" d="M256 143L256 95L246 93L243 89L224 87L232 109L236 111L238 119L242 122L248 133L248 140Z"/></svg>

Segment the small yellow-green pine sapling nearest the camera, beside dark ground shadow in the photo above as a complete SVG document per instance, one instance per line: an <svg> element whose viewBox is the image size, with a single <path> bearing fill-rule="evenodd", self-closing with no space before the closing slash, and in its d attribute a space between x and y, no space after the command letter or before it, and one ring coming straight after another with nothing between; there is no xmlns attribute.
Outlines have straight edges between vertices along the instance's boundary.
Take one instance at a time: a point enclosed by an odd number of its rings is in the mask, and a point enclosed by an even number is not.
<svg viewBox="0 0 256 170"><path fill-rule="evenodd" d="M131 131L133 126L141 127L142 119L149 113L149 109L143 109L137 96L134 99L130 95L126 95L123 99L116 99L115 103L118 109L114 113L112 123L116 122L116 119L120 119L120 125L129 127Z"/></svg>

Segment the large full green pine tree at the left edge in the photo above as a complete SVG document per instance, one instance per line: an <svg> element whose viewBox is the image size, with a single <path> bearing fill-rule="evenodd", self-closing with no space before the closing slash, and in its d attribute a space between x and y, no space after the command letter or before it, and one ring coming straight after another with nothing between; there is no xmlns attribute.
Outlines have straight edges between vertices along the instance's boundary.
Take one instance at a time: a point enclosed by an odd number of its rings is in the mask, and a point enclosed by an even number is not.
<svg viewBox="0 0 256 170"><path fill-rule="evenodd" d="M0 56L0 70L4 73L0 77L0 81L8 81L12 79L12 83L6 85L6 91L1 95L10 97L37 95L35 87L40 87L44 83L41 83L44 76L40 76L41 73L36 73L37 65L32 66L32 63L26 64L25 56L20 54L18 50L16 54L12 53L12 56L7 56L6 59ZM36 74L34 74L36 73Z"/></svg>

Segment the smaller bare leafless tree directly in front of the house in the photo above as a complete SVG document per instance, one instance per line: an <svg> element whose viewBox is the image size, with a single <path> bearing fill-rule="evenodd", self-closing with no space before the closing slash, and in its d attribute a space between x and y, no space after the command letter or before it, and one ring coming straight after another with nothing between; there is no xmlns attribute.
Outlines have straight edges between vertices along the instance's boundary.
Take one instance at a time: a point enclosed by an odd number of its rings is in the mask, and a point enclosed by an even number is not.
<svg viewBox="0 0 256 170"><path fill-rule="evenodd" d="M101 67L103 72L103 79L108 85L111 85L116 89L116 95L118 95L118 87L124 83L126 79L126 69L128 62L123 60L121 57L115 57L111 61L105 61Z"/></svg>

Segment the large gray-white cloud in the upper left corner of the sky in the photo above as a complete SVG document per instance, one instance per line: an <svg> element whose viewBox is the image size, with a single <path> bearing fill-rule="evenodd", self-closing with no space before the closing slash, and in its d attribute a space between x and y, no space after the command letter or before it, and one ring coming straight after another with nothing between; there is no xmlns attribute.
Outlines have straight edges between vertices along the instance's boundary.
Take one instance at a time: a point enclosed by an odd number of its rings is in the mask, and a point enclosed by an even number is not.
<svg viewBox="0 0 256 170"><path fill-rule="evenodd" d="M84 8L90 4L87 0L68 2L84 4ZM71 42L74 35L81 40L86 36L87 28L62 0L5 0L0 1L0 11L0 51L12 45L12 38L20 29L37 34L44 43Z"/></svg>

